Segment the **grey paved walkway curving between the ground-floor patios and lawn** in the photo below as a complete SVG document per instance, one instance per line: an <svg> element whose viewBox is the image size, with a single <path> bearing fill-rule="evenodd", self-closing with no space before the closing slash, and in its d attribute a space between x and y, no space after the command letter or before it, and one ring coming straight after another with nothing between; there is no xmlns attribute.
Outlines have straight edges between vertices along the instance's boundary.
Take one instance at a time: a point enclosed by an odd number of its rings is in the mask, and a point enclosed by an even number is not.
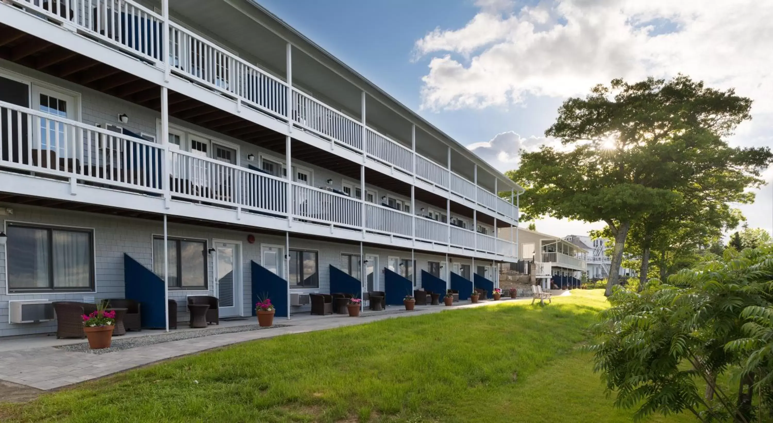
<svg viewBox="0 0 773 423"><path fill-rule="evenodd" d="M568 292L567 292L568 293ZM531 298L507 299L508 301L528 301ZM462 304L450 310L490 306L502 301L486 301L478 304ZM445 306L417 306L417 310L407 312L397 306L389 307L383 312L364 313L359 318L349 316L292 316L291 320L278 318L274 323L288 325L263 330L248 330L236 333L222 333L187 340L155 343L145 347L114 351L107 354L89 354L66 351L54 348L59 345L82 343L83 340L56 340L56 337L18 337L0 341L0 381L9 381L43 390L56 389L69 384L88 381L97 377L107 376L133 367L151 364L158 360L166 360L186 354L197 353L216 347L248 340L277 337L287 333L304 333L312 330L325 330L335 327L352 326L369 323L376 320L394 317L421 316L430 313L440 313L449 310ZM220 327L255 324L254 318L237 322L222 322ZM188 328L175 330L190 330ZM165 332L148 331L129 332L127 337L152 337ZM114 338L117 339L117 338Z"/></svg>

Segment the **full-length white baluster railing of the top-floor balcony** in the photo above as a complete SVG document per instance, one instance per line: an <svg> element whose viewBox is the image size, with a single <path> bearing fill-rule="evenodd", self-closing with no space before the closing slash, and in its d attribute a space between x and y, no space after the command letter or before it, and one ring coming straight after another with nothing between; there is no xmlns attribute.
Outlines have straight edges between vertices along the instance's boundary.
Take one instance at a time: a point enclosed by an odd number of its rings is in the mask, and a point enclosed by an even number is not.
<svg viewBox="0 0 773 423"><path fill-rule="evenodd" d="M284 81L263 69L240 59L218 46L169 21L169 34L164 34L162 15L139 5L134 0L9 0L25 10L42 15L63 26L99 39L107 46L129 52L146 63L169 69L193 83L281 120L291 120L320 137L363 152L377 161L419 178L448 188L451 192L489 208L505 218L518 218L518 209L497 195L476 187L472 181L449 172L421 154L414 154L395 140L366 127L346 114L329 107L312 96L291 89ZM5 7L5 5L0 5Z"/></svg>

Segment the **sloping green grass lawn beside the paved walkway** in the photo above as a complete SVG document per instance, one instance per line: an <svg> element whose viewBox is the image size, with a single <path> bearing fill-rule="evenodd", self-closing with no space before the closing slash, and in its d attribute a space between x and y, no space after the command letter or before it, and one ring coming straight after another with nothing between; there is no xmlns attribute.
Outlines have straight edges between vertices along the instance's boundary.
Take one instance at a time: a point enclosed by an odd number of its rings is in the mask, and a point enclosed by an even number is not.
<svg viewBox="0 0 773 423"><path fill-rule="evenodd" d="M0 421L631 421L577 351L602 293L252 341L0 404Z"/></svg>

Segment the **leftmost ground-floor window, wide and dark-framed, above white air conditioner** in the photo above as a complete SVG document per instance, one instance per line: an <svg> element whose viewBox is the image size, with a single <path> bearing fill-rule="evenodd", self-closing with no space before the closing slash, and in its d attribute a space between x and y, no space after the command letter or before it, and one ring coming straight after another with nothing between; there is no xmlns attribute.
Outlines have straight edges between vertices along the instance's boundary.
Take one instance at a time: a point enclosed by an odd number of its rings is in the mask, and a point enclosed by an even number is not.
<svg viewBox="0 0 773 423"><path fill-rule="evenodd" d="M94 290L94 233L9 224L9 292Z"/></svg>

